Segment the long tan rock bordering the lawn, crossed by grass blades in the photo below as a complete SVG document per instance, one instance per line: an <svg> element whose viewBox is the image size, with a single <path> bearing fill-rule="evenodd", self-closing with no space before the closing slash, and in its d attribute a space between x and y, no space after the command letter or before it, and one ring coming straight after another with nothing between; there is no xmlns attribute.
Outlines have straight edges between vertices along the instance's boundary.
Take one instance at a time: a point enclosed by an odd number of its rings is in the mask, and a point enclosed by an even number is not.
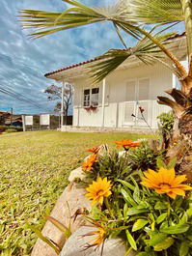
<svg viewBox="0 0 192 256"><path fill-rule="evenodd" d="M77 210L85 208L91 210L90 201L85 197L86 191L83 188L77 188L76 185L69 184L59 197L51 216L59 220L65 226L69 227L71 221L71 232L76 231L81 225L84 225L82 215L78 215L73 222L73 216ZM42 235L56 242L61 248L65 243L64 234L56 228L50 221L47 221L42 229ZM40 239L36 242L31 256L56 256L56 252Z"/></svg>

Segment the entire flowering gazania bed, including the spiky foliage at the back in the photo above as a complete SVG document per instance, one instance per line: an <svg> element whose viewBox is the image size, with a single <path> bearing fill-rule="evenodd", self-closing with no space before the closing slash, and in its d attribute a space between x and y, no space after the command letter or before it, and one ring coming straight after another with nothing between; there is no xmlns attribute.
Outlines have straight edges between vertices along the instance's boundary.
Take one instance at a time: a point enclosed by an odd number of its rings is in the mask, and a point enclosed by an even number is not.
<svg viewBox="0 0 192 256"><path fill-rule="evenodd" d="M163 152L152 152L145 142L123 156L97 149L84 165L93 205L87 219L98 229L89 245L119 236L128 247L125 255L192 255L192 195L185 191L192 187L182 184L184 175L176 176L177 160L166 164Z"/></svg>

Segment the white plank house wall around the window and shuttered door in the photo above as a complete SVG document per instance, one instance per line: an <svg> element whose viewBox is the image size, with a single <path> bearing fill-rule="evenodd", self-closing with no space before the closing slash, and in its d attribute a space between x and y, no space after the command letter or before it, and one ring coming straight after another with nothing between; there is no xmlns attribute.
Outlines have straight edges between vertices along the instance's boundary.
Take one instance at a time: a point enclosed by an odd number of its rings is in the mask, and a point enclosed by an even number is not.
<svg viewBox="0 0 192 256"><path fill-rule="evenodd" d="M140 64L139 67L114 71L106 78L104 127L129 127L146 126L142 122L124 122L124 105L127 101L126 83L130 79L150 78L149 102L141 101L149 111L149 121L152 128L157 127L156 116L169 108L156 103L157 96L165 96L164 91L172 88L173 75L171 71L160 64L146 66ZM83 107L83 90L89 88L91 82L86 78L74 80L73 99L73 126L79 127L101 127L102 126L102 85L99 84L99 104L95 112L88 112ZM96 87L96 86L95 86ZM135 107L137 107L135 105Z"/></svg>

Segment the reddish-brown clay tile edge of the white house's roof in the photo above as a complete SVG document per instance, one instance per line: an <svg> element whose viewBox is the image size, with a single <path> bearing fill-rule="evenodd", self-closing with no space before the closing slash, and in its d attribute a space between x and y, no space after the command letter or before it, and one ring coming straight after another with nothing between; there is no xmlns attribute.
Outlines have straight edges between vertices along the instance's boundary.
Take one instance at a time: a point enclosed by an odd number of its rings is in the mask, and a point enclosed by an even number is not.
<svg viewBox="0 0 192 256"><path fill-rule="evenodd" d="M175 39L178 39L178 38L182 38L183 36L185 36L185 32L183 32L183 33L181 33L181 34L176 34L176 35L170 37L168 40L175 40ZM63 69L60 69L60 70L47 72L47 73L44 74L44 76L45 76L45 77L48 77L49 75L55 74L55 73L60 72L60 71L71 70L71 69L74 69L74 68L83 66L83 65L85 65L85 64L89 64L89 63L92 63L92 62L96 62L96 61L98 61L99 59L100 59L100 57L97 56L97 57L94 58L94 59L90 59L90 60L87 60L87 61L84 61L84 62L80 62L80 63L74 64L74 65L70 65L70 66L65 67L65 68L63 68Z"/></svg>

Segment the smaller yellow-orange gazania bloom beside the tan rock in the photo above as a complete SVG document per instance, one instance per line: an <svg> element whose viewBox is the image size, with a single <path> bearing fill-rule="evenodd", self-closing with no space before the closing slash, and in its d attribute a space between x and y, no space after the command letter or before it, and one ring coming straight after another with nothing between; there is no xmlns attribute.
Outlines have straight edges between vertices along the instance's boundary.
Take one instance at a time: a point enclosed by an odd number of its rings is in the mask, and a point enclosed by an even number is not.
<svg viewBox="0 0 192 256"><path fill-rule="evenodd" d="M102 205L104 197L111 195L111 182L107 181L107 178L103 180L99 177L96 182L94 181L92 185L89 185L86 190L89 192L85 196L93 200L92 205L96 202Z"/></svg>

